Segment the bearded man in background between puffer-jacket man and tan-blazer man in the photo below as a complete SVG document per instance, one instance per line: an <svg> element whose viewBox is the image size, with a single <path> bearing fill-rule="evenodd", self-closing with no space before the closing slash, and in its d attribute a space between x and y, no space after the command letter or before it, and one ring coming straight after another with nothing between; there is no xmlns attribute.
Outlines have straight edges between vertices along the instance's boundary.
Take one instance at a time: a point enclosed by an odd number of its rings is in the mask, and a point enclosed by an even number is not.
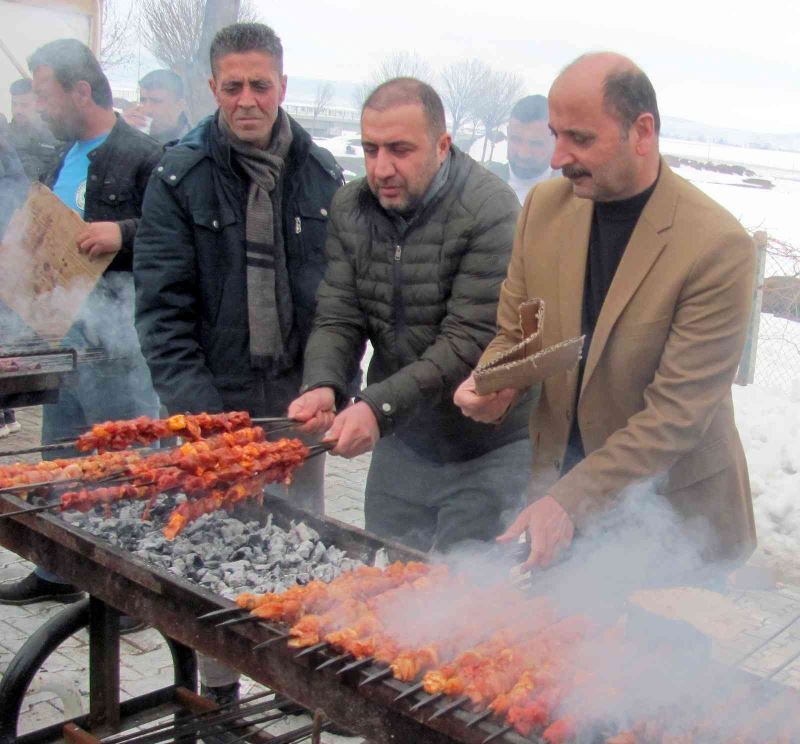
<svg viewBox="0 0 800 744"><path fill-rule="evenodd" d="M520 204L539 181L552 178L553 135L547 126L547 99L526 96L514 104L508 121L507 163L487 163L517 195Z"/></svg>

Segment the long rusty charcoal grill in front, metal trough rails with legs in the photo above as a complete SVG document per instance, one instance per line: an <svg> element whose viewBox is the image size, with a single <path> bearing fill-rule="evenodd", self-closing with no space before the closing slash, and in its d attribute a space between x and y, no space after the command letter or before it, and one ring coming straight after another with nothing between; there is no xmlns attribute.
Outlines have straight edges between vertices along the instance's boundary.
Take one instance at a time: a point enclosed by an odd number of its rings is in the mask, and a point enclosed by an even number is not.
<svg viewBox="0 0 800 744"><path fill-rule="evenodd" d="M14 496L0 495L0 513L16 511L24 506L24 502ZM349 556L366 563L371 563L381 549L386 551L391 561L426 558L424 554L398 543L381 540L337 520L294 508L283 499L267 497L264 511L271 512L275 523L281 526L288 526L292 520L304 521L317 530L326 543L332 543ZM252 516L254 514L250 514ZM312 653L289 648L285 627L252 622L220 627L219 623L198 620L204 613L234 605L196 584L144 563L105 540L70 526L53 514L39 512L0 520L0 544L48 570L58 572L65 580L91 595L90 648L97 645L97 659L96 663L90 663L88 723L100 730L116 727L126 709L125 704L120 707L118 692L119 636L114 621L116 613L120 612L141 618L172 641L170 648L176 662L176 684L164 688L160 695L151 694L153 701L163 702L176 686L195 689L193 658L188 651L191 649L218 659L303 707L323 710L336 723L375 744L481 744L487 737L502 731L501 727L488 721L468 726L474 716L461 710L430 720L435 707L422 706L411 710L427 696L415 692L398 701L396 698L409 692L412 685L391 678L359 686L368 676L380 671L377 666L359 665L341 674L347 664L347 660L342 659L340 663L318 670L317 667L334 653L322 648ZM70 609L64 612L70 613ZM73 610L76 616L80 612ZM76 618L73 624L78 622ZM74 629L78 627L81 626L74 625ZM266 641L272 642L265 644ZM260 644L265 645L254 650L254 646ZM3 684L8 686L5 680ZM127 708L138 710L130 704ZM15 728L16 717L13 725ZM60 726L55 728L60 729ZM58 731L49 733L53 734L50 740L58 738ZM0 723L0 743L14 741L14 735L15 730L11 730L8 722ZM510 732L505 736L506 741L516 741L517 744L539 741ZM47 737L48 732L42 732L38 738L20 737L19 741L45 741Z"/></svg>

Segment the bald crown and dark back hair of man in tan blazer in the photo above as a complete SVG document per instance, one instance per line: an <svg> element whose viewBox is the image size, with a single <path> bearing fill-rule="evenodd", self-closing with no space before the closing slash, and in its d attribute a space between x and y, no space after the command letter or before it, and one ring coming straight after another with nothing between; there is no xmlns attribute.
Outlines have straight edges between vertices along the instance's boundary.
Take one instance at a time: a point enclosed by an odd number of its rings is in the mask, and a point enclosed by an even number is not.
<svg viewBox="0 0 800 744"><path fill-rule="evenodd" d="M559 82L602 90L603 105L627 132L642 114L651 114L656 134L661 131L656 91L650 78L631 59L616 52L591 52L570 62L558 75Z"/></svg>

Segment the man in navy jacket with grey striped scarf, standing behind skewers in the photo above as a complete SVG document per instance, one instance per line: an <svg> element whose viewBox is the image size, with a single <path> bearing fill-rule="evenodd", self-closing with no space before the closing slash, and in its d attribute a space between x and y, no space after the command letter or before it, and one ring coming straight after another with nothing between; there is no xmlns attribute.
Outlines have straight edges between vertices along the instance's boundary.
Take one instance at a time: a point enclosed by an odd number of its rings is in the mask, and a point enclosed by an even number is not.
<svg viewBox="0 0 800 744"><path fill-rule="evenodd" d="M136 327L170 413L283 416L300 388L328 207L343 179L280 108L282 54L267 26L222 29L211 47L220 107L167 149L147 189ZM309 465L290 493L321 509L324 463Z"/></svg>

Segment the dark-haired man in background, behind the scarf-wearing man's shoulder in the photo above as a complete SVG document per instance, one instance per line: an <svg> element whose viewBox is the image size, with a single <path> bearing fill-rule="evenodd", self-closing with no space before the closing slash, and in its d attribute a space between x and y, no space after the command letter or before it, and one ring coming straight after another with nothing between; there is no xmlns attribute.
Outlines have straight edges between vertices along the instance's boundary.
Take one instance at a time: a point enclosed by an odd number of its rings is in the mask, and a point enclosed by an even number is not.
<svg viewBox="0 0 800 744"><path fill-rule="evenodd" d="M191 125L186 116L183 80L172 70L153 70L139 81L139 103L123 118L162 145L183 137Z"/></svg>

